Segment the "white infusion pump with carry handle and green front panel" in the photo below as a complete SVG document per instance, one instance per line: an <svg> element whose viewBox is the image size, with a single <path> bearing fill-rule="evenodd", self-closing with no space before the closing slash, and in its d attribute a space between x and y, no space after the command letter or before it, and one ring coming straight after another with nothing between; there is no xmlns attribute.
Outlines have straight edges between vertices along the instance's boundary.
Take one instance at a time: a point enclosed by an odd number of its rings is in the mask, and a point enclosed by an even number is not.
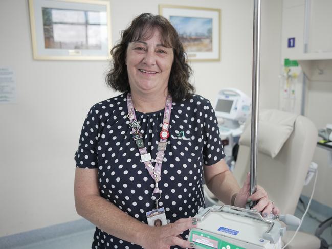
<svg viewBox="0 0 332 249"><path fill-rule="evenodd" d="M259 212L229 205L200 209L188 240L198 249L281 249L285 227Z"/></svg>

